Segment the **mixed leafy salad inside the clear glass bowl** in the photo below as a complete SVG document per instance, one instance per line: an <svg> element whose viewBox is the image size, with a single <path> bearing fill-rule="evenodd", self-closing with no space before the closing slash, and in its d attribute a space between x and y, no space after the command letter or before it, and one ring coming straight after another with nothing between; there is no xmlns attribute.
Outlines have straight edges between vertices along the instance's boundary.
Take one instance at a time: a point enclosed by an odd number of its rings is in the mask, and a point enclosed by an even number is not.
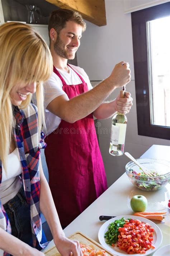
<svg viewBox="0 0 170 256"><path fill-rule="evenodd" d="M131 181L133 185L142 190L155 191L166 185L168 182L166 175L161 175L155 170L151 170L154 177L149 177L142 171L137 173L133 169L129 169L129 172L132 174Z"/></svg>

